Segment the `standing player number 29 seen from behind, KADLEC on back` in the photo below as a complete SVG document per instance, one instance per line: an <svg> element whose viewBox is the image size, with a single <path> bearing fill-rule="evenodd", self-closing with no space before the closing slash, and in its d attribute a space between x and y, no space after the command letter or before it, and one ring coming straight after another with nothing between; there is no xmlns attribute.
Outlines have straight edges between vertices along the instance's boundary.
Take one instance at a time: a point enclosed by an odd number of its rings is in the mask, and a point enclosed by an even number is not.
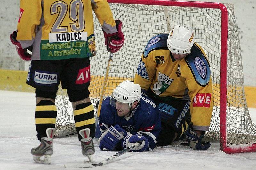
<svg viewBox="0 0 256 170"><path fill-rule="evenodd" d="M118 51L124 44L122 22L114 21L106 0L20 1L17 32L11 34L11 42L23 60L32 60L27 84L36 88L35 123L41 143L31 154L38 163L51 162L54 101L60 81L73 106L82 153L92 161L95 119L88 90L89 57L95 54L92 10L102 25L108 51Z"/></svg>

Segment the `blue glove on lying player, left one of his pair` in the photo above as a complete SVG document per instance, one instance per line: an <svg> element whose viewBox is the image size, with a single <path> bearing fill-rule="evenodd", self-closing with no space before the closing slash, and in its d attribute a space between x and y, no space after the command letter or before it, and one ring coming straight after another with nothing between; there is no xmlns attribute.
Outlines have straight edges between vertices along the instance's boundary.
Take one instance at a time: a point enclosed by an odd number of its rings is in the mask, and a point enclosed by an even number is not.
<svg viewBox="0 0 256 170"><path fill-rule="evenodd" d="M127 135L127 132L118 124L110 126L99 138L99 147L101 150L108 149L113 151L117 143Z"/></svg>

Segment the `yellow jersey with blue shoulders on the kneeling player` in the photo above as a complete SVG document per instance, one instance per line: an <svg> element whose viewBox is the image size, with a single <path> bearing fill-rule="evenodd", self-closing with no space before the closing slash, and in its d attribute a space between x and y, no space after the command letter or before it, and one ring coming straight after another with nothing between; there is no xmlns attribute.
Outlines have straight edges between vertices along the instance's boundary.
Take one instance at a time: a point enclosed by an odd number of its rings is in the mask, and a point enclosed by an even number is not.
<svg viewBox="0 0 256 170"><path fill-rule="evenodd" d="M196 43L191 53L175 60L167 47L169 33L154 36L146 45L134 83L163 100L190 100L194 130L208 131L212 117L211 71L206 54Z"/></svg>

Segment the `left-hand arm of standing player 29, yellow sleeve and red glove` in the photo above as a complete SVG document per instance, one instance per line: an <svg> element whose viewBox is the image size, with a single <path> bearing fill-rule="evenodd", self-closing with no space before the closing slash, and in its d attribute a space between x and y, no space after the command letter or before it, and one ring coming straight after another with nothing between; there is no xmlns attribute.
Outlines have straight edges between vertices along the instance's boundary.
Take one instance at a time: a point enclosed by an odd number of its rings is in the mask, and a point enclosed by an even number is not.
<svg viewBox="0 0 256 170"><path fill-rule="evenodd" d="M27 53L27 49L32 51L36 26L40 24L41 16L41 0L20 1L20 16L17 31L14 31L10 35L10 39L22 60L31 60L31 55Z"/></svg>

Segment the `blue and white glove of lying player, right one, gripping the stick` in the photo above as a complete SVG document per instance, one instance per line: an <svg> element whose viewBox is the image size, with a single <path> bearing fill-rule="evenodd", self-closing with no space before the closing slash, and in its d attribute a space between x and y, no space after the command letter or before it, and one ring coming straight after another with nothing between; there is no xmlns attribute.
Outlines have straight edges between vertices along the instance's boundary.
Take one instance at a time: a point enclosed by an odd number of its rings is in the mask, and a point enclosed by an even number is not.
<svg viewBox="0 0 256 170"><path fill-rule="evenodd" d="M140 145L134 147L132 151L134 152L143 152L146 150L149 150L148 148L148 138L141 135L132 135L130 133L127 134L127 136L123 139L123 148L127 148L134 143L139 142Z"/></svg>

